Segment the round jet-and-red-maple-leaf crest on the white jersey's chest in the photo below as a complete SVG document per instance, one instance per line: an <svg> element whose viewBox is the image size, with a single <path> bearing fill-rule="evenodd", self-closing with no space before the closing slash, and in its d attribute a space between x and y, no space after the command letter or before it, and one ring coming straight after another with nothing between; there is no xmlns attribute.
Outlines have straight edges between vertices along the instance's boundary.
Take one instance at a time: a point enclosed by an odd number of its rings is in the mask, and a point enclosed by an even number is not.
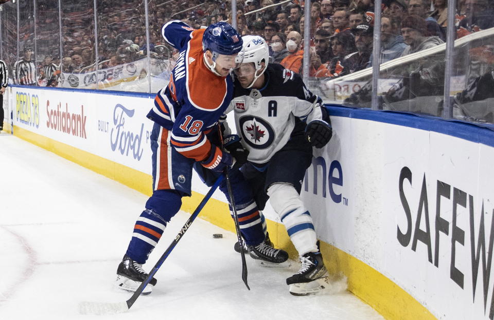
<svg viewBox="0 0 494 320"><path fill-rule="evenodd" d="M244 116L239 120L243 141L256 149L268 148L274 140L274 130L271 125L254 116Z"/></svg>

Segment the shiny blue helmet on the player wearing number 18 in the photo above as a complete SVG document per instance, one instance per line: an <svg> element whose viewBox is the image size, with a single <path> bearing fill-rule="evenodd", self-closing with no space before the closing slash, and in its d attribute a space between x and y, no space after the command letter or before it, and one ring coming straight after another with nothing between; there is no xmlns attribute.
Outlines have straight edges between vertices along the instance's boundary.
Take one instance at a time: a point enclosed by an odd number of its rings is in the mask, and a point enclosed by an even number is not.
<svg viewBox="0 0 494 320"><path fill-rule="evenodd" d="M210 25L204 31L202 48L213 53L232 55L242 50L242 37L231 25L218 22Z"/></svg>

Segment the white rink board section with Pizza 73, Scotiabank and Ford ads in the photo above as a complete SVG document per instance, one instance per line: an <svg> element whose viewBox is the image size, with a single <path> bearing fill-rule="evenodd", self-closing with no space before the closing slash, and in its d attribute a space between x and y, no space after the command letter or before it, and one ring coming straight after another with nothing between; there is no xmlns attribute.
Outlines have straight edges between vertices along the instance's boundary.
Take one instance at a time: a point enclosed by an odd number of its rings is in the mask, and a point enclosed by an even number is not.
<svg viewBox="0 0 494 320"><path fill-rule="evenodd" d="M152 98L12 89L14 125L151 173Z"/></svg>

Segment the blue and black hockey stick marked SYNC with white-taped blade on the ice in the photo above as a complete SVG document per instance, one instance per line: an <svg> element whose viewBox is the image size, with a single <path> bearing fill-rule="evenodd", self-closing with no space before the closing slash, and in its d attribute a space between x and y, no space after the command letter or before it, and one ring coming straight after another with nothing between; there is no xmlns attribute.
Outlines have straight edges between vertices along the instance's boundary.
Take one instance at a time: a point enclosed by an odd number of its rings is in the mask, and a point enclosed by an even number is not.
<svg viewBox="0 0 494 320"><path fill-rule="evenodd" d="M170 243L170 246L166 249L165 253L161 256L161 258L156 262L151 272L149 272L148 276L144 281L140 284L134 294L128 299L126 302L117 302L117 303L100 303L100 302L81 302L79 304L79 313L80 314L114 314L129 311L130 307L135 303L135 300L139 297L139 295L143 292L144 288L149 284L149 281L153 278L154 274L160 269L163 262L165 262L170 252L177 246L177 243L182 239L185 232L189 229L190 224L196 219L201 212L204 205L209 200L209 198L216 191L221 181L223 181L224 175L221 175L216 179L216 182L211 189L209 189L208 193L204 196L201 203L197 206L196 210L190 215L190 218L187 219L182 229L180 229L179 234L175 237L175 239Z"/></svg>

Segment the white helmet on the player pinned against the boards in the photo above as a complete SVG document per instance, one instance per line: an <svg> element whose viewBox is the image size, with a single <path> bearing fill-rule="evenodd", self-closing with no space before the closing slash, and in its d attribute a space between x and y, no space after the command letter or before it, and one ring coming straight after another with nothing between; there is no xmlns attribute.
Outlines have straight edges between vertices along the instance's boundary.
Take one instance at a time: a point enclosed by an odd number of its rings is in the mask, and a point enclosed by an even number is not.
<svg viewBox="0 0 494 320"><path fill-rule="evenodd" d="M255 76L252 83L247 87L250 88L256 82L256 80L261 76L264 71L266 71L266 66L269 63L269 47L266 41L258 35L244 35L242 36L243 41L243 61L245 63L254 63L256 68ZM264 62L264 69L260 73L258 71L262 68L261 62Z"/></svg>

